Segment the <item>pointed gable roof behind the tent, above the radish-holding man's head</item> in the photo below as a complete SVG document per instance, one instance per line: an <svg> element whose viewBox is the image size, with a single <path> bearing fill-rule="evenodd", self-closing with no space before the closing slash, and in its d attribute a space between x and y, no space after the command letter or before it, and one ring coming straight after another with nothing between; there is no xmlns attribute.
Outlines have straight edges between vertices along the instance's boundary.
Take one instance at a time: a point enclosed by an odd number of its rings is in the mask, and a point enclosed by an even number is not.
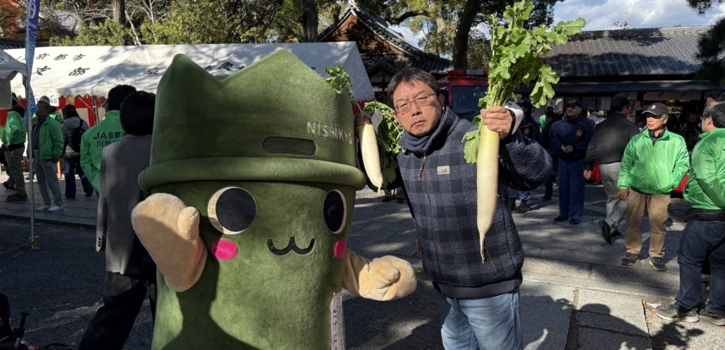
<svg viewBox="0 0 725 350"><path fill-rule="evenodd" d="M405 38L403 38L400 33L392 30L389 27L389 23L382 17L370 14L370 12L366 9L358 9L354 4L348 7L347 12L342 15L341 20L337 25L328 27L323 31L323 33L320 33L318 41L323 41L326 36L334 33L339 28L339 25L344 23L348 17L353 15L357 17L357 19L360 20L360 22L362 22L366 27L370 28L373 33L376 33L388 43L397 47L401 51L404 51L407 55L407 57L405 57L406 59L401 61L399 57L397 57L397 59L392 59L392 57L381 58L379 55L366 57L367 55L365 53L360 52L368 71L370 71L370 67L378 64L385 64L388 68L394 68L394 72L397 72L397 70L406 66L413 66L421 70L425 70L426 72L446 72L448 70L452 70L450 60L434 54L428 54L427 52L416 48L405 41Z"/></svg>

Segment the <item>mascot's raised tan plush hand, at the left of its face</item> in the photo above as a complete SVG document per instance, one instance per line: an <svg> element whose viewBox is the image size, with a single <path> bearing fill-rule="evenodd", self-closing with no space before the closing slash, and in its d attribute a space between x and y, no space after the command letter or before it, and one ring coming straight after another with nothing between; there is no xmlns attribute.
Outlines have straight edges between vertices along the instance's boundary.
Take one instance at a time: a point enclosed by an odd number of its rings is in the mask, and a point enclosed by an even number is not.
<svg viewBox="0 0 725 350"><path fill-rule="evenodd" d="M152 194L131 212L136 236L173 291L186 291L202 276L207 249L199 220L199 210L168 193Z"/></svg>

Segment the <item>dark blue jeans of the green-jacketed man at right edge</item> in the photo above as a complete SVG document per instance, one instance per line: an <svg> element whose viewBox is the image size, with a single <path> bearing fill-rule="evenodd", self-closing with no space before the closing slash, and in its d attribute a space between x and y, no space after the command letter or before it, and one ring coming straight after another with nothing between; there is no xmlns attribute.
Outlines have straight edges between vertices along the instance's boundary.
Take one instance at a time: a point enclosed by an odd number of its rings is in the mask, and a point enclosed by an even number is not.
<svg viewBox="0 0 725 350"><path fill-rule="evenodd" d="M692 310L700 303L701 274L708 254L711 265L708 311L725 312L725 221L687 222L677 252L680 289L675 298L676 307Z"/></svg>

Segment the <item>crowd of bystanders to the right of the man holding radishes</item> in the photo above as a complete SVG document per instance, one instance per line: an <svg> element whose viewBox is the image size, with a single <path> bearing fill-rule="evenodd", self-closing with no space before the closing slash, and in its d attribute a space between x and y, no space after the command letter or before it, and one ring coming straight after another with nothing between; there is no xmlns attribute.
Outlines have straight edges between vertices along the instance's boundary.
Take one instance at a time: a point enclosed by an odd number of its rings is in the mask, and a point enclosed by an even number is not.
<svg viewBox="0 0 725 350"><path fill-rule="evenodd" d="M716 91L700 117L702 140L689 156L682 136L667 128L670 109L654 103L642 112L639 125L627 119L631 101L614 96L606 118L602 113L582 114L581 101L566 102L563 120L542 116L542 146L550 151L559 186L559 214L555 222L581 220L584 180L597 167L607 195L602 238L621 236L626 253L621 264L640 260L642 221L649 217L649 263L666 271L665 238L671 193L685 179L684 199L691 204L687 225L677 251L680 288L676 303L657 309L664 320L697 322L700 318L725 325L725 93ZM692 158L692 160L690 160ZM581 170L584 170L583 173ZM551 199L547 186L542 200ZM626 217L626 220L624 220ZM626 225L626 227L623 227ZM709 298L700 301L701 283L709 281ZM699 311L699 312L698 312Z"/></svg>

